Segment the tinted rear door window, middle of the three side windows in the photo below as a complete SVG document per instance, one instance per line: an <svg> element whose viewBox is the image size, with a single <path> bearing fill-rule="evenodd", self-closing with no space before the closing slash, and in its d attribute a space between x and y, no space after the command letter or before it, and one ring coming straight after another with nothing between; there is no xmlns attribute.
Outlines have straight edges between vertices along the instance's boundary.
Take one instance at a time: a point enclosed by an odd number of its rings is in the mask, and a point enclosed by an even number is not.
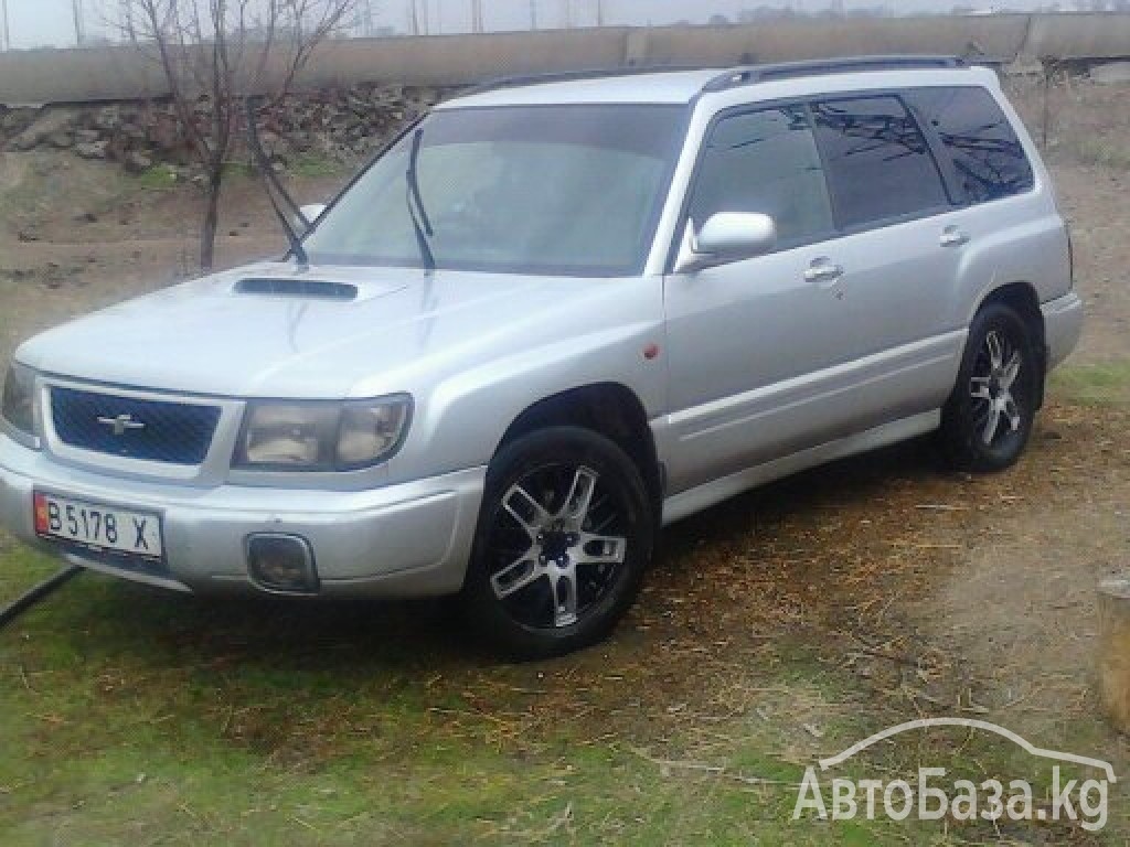
<svg viewBox="0 0 1130 847"><path fill-rule="evenodd" d="M842 227L949 206L922 131L897 97L814 103L812 116Z"/></svg>

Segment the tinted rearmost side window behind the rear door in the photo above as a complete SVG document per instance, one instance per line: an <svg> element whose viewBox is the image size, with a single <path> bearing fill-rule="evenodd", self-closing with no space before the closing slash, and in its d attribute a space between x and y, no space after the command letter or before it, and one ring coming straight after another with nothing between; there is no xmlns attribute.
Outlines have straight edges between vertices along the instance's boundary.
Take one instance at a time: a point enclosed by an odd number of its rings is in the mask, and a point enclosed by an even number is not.
<svg viewBox="0 0 1130 847"><path fill-rule="evenodd" d="M1028 191L1032 164L1000 105L983 88L919 88L907 97L949 151L971 202Z"/></svg>

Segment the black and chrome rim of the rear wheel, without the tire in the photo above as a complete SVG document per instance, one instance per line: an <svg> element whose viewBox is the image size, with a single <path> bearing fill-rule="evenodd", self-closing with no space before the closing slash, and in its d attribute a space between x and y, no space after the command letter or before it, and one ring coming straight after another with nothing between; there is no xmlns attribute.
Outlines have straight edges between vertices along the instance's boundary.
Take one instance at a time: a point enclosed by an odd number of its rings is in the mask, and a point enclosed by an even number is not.
<svg viewBox="0 0 1130 847"><path fill-rule="evenodd" d="M977 350L970 376L974 431L988 447L998 447L1020 431L1024 422L1018 377L1024 368L1020 350L1006 333L990 330Z"/></svg>

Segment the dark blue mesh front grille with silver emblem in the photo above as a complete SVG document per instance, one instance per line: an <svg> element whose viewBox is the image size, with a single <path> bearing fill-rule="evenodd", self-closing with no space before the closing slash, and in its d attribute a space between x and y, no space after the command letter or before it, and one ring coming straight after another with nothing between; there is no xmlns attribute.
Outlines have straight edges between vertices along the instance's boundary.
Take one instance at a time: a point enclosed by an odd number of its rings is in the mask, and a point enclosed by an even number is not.
<svg viewBox="0 0 1130 847"><path fill-rule="evenodd" d="M51 419L63 444L114 456L200 464L219 408L51 386Z"/></svg>

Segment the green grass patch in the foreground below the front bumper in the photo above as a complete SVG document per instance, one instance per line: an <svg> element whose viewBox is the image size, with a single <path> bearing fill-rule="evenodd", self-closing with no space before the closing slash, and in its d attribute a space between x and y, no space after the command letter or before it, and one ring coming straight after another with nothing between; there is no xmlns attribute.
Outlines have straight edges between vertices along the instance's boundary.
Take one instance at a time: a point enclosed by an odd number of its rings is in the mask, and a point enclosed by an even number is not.
<svg viewBox="0 0 1130 847"><path fill-rule="evenodd" d="M3 564L28 579L49 569L23 551ZM84 577L3 635L6 845L748 844L788 805L664 776L626 743L551 727L495 739L485 731L506 718L489 710L464 734L452 716L473 711L469 698L429 693L433 669L409 645L359 666L332 645L303 657L284 639L276 655L257 644L273 626L258 610L236 627L251 652L233 657L197 640L199 613Z"/></svg>

